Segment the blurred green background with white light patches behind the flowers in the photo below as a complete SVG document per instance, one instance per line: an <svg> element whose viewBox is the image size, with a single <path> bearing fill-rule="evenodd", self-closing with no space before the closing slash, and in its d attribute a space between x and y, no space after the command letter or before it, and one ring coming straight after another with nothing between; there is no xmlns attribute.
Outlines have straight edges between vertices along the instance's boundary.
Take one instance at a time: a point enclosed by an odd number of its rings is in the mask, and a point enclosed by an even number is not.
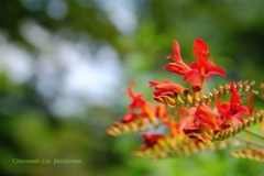
<svg viewBox="0 0 264 176"><path fill-rule="evenodd" d="M194 40L204 38L227 70L208 90L230 79L263 81L263 7L262 0L0 0L0 175L264 175L263 164L230 151L139 158L138 135L106 134L125 114L131 80L147 100L148 80L182 82L162 68L174 40L189 63Z"/></svg>

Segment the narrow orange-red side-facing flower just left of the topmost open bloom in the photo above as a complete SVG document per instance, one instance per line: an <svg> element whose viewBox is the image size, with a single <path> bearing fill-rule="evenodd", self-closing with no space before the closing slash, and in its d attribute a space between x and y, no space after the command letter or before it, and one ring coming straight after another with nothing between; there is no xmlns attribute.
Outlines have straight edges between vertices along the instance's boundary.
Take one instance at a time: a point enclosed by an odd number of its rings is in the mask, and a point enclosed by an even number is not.
<svg viewBox="0 0 264 176"><path fill-rule="evenodd" d="M169 55L168 58L172 61L172 63L167 64L164 68L168 72L183 75L185 76L187 73L191 70L191 68L184 63L180 56L180 47L177 41L174 41L174 55ZM189 79L191 85L197 85L197 80L195 77Z"/></svg>

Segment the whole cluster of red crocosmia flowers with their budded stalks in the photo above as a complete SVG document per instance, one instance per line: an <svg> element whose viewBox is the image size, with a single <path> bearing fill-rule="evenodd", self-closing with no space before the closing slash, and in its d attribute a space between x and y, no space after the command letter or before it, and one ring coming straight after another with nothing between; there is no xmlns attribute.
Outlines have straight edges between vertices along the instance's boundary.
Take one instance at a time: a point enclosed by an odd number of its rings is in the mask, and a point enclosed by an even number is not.
<svg viewBox="0 0 264 176"><path fill-rule="evenodd" d="M249 139L264 139L263 132L250 129L257 123L264 129L264 109L258 110L253 100L254 96L264 100L264 84L255 88L255 81L230 81L204 94L205 80L209 84L211 75L226 77L227 73L210 59L204 40L194 41L194 55L195 62L186 64L179 43L174 41L173 55L167 56L169 63L164 68L189 85L167 79L148 81L157 102L153 105L144 99L144 94L135 94L132 81L127 92L131 99L128 113L107 133L113 136L141 133L144 142L135 155L142 157L179 157L201 151L239 147L242 150L232 156L264 162L263 144ZM243 103L242 99L248 102ZM246 138L241 136L242 131Z"/></svg>

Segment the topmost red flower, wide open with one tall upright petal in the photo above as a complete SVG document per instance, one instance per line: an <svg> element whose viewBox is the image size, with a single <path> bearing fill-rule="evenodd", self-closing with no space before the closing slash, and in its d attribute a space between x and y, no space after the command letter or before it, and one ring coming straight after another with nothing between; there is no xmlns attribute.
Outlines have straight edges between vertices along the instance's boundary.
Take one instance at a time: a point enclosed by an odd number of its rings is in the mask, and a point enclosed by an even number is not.
<svg viewBox="0 0 264 176"><path fill-rule="evenodd" d="M209 75L227 76L222 68L217 67L216 63L209 61L210 54L207 44L201 38L195 40L194 53L197 62L189 64L189 67L193 68L193 70L185 74L184 81L199 76L200 84L202 85L205 79L209 81Z"/></svg>

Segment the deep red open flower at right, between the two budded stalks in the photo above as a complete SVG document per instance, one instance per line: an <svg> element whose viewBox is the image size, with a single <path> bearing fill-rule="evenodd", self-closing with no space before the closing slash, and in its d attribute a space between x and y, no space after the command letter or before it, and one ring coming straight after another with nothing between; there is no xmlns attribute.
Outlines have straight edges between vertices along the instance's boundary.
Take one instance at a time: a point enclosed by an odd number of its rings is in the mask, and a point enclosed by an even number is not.
<svg viewBox="0 0 264 176"><path fill-rule="evenodd" d="M250 114L250 111L245 106L242 106L242 102L240 101L241 97L242 96L238 92L238 90L233 89L230 102L222 103L220 106L218 111L223 121L230 121L233 118L237 118L242 123L244 122L243 118L240 114Z"/></svg>

